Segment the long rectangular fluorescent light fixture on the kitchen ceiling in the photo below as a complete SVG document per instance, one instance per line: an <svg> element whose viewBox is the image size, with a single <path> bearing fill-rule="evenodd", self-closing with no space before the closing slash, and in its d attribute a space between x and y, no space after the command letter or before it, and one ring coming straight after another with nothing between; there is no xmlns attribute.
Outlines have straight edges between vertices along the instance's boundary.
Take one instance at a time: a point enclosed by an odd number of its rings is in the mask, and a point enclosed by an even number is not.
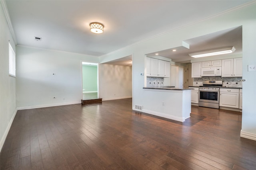
<svg viewBox="0 0 256 170"><path fill-rule="evenodd" d="M209 50L209 51L202 51L198 53L190 53L191 57L198 58L198 57L207 57L212 55L221 55L221 54L228 54L233 53L235 51L235 47L227 47L222 49L215 49L215 50Z"/></svg>

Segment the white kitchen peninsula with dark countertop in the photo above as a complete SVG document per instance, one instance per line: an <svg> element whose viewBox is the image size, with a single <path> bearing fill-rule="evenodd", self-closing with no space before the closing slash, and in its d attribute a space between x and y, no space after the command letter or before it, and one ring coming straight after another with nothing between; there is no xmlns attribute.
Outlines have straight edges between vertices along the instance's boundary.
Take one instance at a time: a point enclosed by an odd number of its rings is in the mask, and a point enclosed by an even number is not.
<svg viewBox="0 0 256 170"><path fill-rule="evenodd" d="M144 87L142 112L184 122L191 113L191 88ZM136 110L136 109L135 109Z"/></svg>

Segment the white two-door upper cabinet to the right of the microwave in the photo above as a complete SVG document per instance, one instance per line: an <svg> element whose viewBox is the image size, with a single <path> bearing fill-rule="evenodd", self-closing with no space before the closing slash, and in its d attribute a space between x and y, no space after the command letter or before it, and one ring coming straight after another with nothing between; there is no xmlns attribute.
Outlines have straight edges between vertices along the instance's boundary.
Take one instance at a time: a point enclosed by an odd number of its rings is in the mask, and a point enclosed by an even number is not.
<svg viewBox="0 0 256 170"><path fill-rule="evenodd" d="M242 58L222 60L222 77L242 77Z"/></svg>

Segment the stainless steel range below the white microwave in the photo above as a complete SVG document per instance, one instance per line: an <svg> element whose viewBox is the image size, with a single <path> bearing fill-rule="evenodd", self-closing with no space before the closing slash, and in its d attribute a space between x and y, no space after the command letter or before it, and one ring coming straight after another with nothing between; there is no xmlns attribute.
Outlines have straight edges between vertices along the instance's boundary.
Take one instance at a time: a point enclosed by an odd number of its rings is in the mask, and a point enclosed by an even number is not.
<svg viewBox="0 0 256 170"><path fill-rule="evenodd" d="M198 106L218 109L220 87L222 87L222 80L203 81L203 86L199 87Z"/></svg>

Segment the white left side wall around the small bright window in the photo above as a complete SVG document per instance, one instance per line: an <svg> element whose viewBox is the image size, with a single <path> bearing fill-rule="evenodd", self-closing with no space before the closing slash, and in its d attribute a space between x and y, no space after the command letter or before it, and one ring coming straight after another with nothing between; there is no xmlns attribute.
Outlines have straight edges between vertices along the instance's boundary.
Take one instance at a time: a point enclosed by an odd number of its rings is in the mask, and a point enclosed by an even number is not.
<svg viewBox="0 0 256 170"><path fill-rule="evenodd" d="M15 43L0 5L0 150L16 115L16 78L9 76L9 40Z"/></svg>

